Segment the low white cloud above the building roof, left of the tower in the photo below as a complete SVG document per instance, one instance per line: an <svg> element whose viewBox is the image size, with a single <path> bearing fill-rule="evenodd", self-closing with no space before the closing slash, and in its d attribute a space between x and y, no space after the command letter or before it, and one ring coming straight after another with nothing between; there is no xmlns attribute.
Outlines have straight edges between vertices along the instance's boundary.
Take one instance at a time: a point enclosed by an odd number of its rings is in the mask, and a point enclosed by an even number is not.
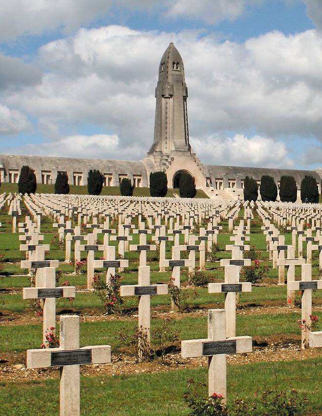
<svg viewBox="0 0 322 416"><path fill-rule="evenodd" d="M123 159L133 160L138 159L140 151L141 149L136 145L121 147L119 138L115 134L74 135L50 143L23 147L23 154L86 159L119 159L121 154ZM15 154L17 149L8 149L7 152Z"/></svg>

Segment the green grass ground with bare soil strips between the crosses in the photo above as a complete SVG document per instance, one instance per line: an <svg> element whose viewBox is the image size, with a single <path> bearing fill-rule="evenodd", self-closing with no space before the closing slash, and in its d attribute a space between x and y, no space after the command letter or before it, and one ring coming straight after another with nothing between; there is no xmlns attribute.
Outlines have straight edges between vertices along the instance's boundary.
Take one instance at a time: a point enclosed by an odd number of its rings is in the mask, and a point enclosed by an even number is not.
<svg viewBox="0 0 322 416"><path fill-rule="evenodd" d="M1 191L4 191L1 185ZM78 187L80 188L80 187ZM85 188L85 187L83 187ZM143 188L140 188L143 189ZM8 192L8 191L7 191ZM14 192L14 191L11 191ZM46 191L49 192L49 191ZM79 192L80 193L80 192ZM28 270L20 268L20 260L24 253L19 250L19 234L11 232L11 218L6 213L7 208L0 211L0 416L44 415L57 416L58 407L58 372L46 370L29 373L24 368L15 370L14 366L24 364L24 352L28 348L38 348L42 343L42 321L35 318L30 301L23 300L22 288L30 286ZM25 211L23 211L25 214ZM243 213L240 213L240 216ZM23 216L19 221L23 220ZM218 260L230 258L231 253L223 250L230 243L228 222L222 221L223 230L218 236L222 250L216 254L217 261L207 262L206 274L211 281L223 281L224 269ZM320 388L320 370L322 368L322 353L316 349L315 357L309 354L302 356L300 350L300 329L298 319L300 308L286 307L286 287L277 286L277 269L272 269L269 253L266 250L266 240L257 217L251 224L251 241L258 250L260 267L269 267L267 277L260 285L254 286L251 293L239 295L236 316L237 335L253 337L257 354L262 354L263 362L253 362L252 354L242 364L228 365L229 401L236 397L253 400L254 392L267 389L285 390L296 388L300 393L307 394L312 402L308 415L322 415L322 395ZM111 223L111 228L116 228ZM196 232L199 230L196 229ZM82 370L81 377L81 415L116 415L116 416L181 416L188 415L184 404L183 394L186 391L187 380L193 377L197 381L207 382L206 359L201 366L199 361L189 360L186 364L178 363L180 352L179 340L198 339L207 336L207 309L223 308L224 294L208 294L207 288L188 287L187 270L182 271L181 282L186 294L189 313L170 313L170 295L152 296L152 331L161 328L165 319L168 328L178 332L179 339L171 345L172 357L170 363L162 365L160 360L152 363L132 365L132 371L126 371L126 363L132 363L133 351L125 345L122 334L127 333L131 339L137 325L138 299L124 298L125 314L121 317L105 316L100 298L86 291L86 270L73 274L71 264L64 263L65 252L53 244L57 229L52 222L44 218L42 233L44 243L50 244L48 259L60 260L61 276L58 284L68 280L77 289L76 298L72 305L69 300L57 300L57 314L77 313L81 317L80 344L100 345L110 344L114 357L112 368L122 365L122 374L115 369L115 374L107 370L109 365L94 367L92 372ZM150 237L148 237L148 242ZM99 242L102 237L99 236ZM133 235L132 244L138 243L138 235ZM181 236L181 243L184 243ZM291 243L291 235L285 234L285 243ZM305 255L304 245L304 255ZM85 258L86 253L82 253ZM101 254L96 253L96 258ZM166 257L171 257L171 245L167 245ZM138 279L138 253L126 252L129 268L122 272L122 284L136 284ZM198 260L198 255L197 255ZM168 283L170 271L159 272L155 253L148 253L148 264L151 266L152 283ZM313 276L319 276L318 254L313 255ZM103 270L95 270L102 273ZM300 268L296 268L299 278ZM299 301L299 296L297 296ZM313 293L313 311L322 318L322 292ZM58 325L58 324L57 324ZM280 342L280 344L279 344ZM155 347L157 340L152 339ZM276 344L277 343L277 344ZM289 344L296 350L286 354ZM276 346L274 346L276 345ZM272 361L265 358L265 348L269 348ZM177 355L176 355L177 354ZM304 354L304 353L303 353ZM321 355L320 355L321 354ZM248 357L247 357L248 358ZM132 361L131 361L132 360ZM265 362L264 362L265 361ZM90 367L90 366L89 366ZM122 367L122 368L123 368ZM85 368L85 366L83 367ZM26 378L25 378L26 376ZM25 378L25 379L24 379ZM205 391L205 395L207 392Z"/></svg>

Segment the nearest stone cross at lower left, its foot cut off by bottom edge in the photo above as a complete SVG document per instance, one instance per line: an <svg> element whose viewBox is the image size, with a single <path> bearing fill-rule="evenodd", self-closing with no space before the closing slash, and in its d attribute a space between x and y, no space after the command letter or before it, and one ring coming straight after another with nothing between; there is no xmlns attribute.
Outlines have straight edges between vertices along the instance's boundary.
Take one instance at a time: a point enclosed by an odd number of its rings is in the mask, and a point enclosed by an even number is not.
<svg viewBox="0 0 322 416"><path fill-rule="evenodd" d="M81 364L111 363L111 346L79 347L79 317L60 317L59 348L27 350L27 368L60 367L60 416L80 415Z"/></svg>

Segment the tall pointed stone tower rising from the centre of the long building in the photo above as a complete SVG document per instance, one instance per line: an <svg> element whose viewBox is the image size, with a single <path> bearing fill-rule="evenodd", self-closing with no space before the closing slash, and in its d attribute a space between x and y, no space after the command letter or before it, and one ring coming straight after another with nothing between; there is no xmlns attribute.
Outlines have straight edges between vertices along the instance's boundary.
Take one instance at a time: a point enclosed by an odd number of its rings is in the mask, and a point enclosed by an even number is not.
<svg viewBox="0 0 322 416"><path fill-rule="evenodd" d="M170 43L159 66L154 141L149 151L161 166L171 153L191 153L187 97L184 63L174 44Z"/></svg>

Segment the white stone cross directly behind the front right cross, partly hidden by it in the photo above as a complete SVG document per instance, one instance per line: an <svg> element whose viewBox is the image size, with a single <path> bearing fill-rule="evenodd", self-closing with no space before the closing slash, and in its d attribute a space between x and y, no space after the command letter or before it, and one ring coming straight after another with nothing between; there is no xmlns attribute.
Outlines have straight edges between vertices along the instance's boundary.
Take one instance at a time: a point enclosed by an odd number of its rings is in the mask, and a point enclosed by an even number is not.
<svg viewBox="0 0 322 416"><path fill-rule="evenodd" d="M209 283L209 293L225 294L226 336L236 336L236 293L252 292L252 283L239 282L238 266L225 267L225 283Z"/></svg>

